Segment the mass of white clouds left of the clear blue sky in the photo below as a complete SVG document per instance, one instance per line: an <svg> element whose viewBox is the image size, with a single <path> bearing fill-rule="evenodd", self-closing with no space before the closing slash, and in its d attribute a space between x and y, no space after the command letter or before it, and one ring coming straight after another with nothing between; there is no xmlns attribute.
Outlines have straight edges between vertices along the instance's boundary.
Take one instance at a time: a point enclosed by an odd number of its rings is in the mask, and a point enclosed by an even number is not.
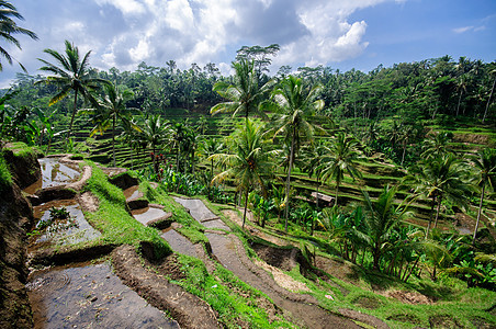
<svg viewBox="0 0 496 329"><path fill-rule="evenodd" d="M241 46L278 43L275 70L328 65L363 53L367 22L351 14L385 1L403 0L23 0L23 26L40 42L22 42L19 58L36 72L40 63L24 58L48 59L44 48L60 52L69 39L81 53L91 49L90 64L99 69L134 70L143 60L164 66L173 59L181 69L216 63L226 73Z"/></svg>

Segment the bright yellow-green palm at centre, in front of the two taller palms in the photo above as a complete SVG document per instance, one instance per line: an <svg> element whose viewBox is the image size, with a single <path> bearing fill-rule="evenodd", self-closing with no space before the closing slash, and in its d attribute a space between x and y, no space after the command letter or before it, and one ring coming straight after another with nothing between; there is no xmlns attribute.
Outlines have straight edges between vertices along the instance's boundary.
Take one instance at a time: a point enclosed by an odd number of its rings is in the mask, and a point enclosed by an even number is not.
<svg viewBox="0 0 496 329"><path fill-rule="evenodd" d="M255 185L264 190L263 180L272 172L271 159L277 151L267 150L267 139L262 126L255 124L249 118L246 120L245 127L236 131L233 136L232 154L217 154L208 159L218 159L223 166L227 166L227 170L215 175L213 182L232 177L237 184L237 191L245 192L243 215L243 228L245 228L248 193Z"/></svg>

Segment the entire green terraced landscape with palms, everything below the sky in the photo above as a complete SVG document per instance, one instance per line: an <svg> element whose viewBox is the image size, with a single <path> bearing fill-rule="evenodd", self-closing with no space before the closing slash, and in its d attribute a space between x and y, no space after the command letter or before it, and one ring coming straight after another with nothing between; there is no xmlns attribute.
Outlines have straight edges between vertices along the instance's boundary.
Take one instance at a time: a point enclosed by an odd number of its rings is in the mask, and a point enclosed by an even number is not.
<svg viewBox="0 0 496 329"><path fill-rule="evenodd" d="M101 70L60 39L31 75L20 18L1 328L496 328L495 61Z"/></svg>

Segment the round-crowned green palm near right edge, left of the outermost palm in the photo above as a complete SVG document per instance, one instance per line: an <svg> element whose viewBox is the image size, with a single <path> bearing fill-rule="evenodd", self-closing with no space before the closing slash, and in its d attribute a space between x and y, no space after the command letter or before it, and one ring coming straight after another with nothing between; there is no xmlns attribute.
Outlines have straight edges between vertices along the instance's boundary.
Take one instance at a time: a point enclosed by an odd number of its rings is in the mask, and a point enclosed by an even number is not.
<svg viewBox="0 0 496 329"><path fill-rule="evenodd" d="M433 227L438 225L441 203L444 198L450 200L453 204L466 205L466 195L472 192L466 178L466 163L451 154L425 160L420 167L414 169L414 175L406 178L407 182L416 185L416 193L424 194L431 200L426 238L429 235L435 205L437 205L437 209Z"/></svg>

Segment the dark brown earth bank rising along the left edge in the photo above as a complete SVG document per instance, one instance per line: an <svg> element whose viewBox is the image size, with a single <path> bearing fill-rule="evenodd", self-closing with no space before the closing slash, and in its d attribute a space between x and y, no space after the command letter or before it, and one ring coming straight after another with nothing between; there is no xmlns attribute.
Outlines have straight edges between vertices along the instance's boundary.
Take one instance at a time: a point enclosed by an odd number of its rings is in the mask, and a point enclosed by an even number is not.
<svg viewBox="0 0 496 329"><path fill-rule="evenodd" d="M25 284L26 230L33 225L33 208L22 195L41 178L35 152L3 150L14 183L0 193L0 328L32 328L33 318ZM18 185L21 184L21 188Z"/></svg>

